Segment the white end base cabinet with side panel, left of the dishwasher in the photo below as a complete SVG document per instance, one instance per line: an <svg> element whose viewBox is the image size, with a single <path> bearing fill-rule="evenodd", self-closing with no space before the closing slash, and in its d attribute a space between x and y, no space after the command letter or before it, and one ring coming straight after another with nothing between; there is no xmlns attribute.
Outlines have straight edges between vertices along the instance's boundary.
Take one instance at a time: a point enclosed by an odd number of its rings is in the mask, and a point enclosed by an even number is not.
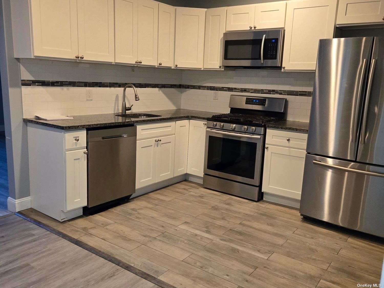
<svg viewBox="0 0 384 288"><path fill-rule="evenodd" d="M86 130L28 123L31 207L65 221L87 205Z"/></svg>

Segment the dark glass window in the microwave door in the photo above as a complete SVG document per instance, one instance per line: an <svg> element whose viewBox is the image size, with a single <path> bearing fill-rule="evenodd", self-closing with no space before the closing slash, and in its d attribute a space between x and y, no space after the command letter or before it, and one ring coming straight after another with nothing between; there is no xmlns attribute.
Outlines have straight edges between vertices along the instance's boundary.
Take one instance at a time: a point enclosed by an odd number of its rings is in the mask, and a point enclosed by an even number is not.
<svg viewBox="0 0 384 288"><path fill-rule="evenodd" d="M261 39L226 40L225 60L260 60Z"/></svg>

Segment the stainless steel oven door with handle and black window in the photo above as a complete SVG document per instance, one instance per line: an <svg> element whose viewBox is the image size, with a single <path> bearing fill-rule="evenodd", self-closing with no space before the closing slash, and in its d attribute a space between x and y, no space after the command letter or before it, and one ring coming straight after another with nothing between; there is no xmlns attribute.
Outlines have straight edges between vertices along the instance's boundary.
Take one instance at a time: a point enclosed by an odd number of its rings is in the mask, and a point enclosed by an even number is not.
<svg viewBox="0 0 384 288"><path fill-rule="evenodd" d="M204 173L258 186L263 141L263 135L207 128Z"/></svg>

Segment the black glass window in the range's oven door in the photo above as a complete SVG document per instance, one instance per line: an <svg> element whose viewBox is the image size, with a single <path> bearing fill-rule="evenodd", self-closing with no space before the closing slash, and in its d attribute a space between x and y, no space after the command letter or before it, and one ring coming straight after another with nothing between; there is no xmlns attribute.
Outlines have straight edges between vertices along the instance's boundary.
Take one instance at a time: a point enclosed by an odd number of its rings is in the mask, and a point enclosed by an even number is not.
<svg viewBox="0 0 384 288"><path fill-rule="evenodd" d="M255 178L257 143L209 136L207 169Z"/></svg>

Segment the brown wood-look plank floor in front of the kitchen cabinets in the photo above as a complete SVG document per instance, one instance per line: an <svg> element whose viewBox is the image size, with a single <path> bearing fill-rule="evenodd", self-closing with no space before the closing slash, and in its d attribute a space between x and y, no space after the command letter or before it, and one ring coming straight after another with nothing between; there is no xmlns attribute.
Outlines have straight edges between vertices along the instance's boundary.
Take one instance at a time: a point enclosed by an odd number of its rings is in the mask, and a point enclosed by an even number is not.
<svg viewBox="0 0 384 288"><path fill-rule="evenodd" d="M177 287L379 283L382 243L184 181L66 223L25 214Z"/></svg>

